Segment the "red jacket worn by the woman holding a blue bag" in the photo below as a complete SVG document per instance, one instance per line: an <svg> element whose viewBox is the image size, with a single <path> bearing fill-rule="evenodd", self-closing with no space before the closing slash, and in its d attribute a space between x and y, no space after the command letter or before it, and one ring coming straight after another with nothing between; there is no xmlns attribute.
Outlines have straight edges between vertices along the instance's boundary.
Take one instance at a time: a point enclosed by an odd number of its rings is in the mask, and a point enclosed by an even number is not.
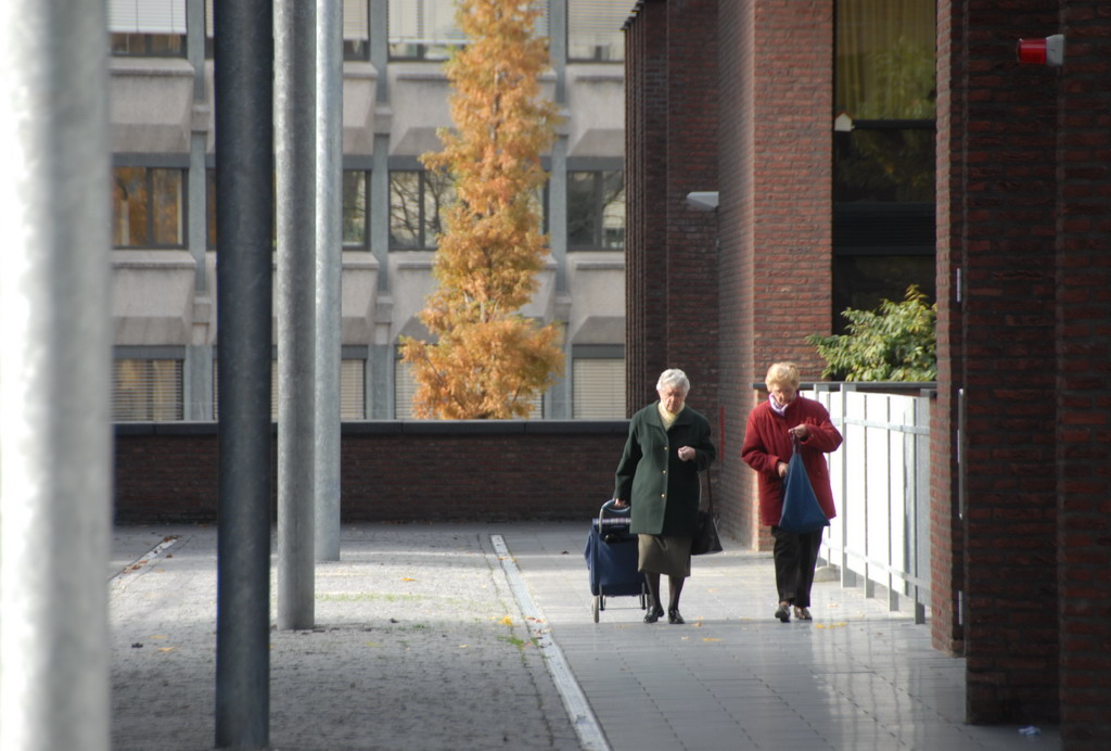
<svg viewBox="0 0 1111 751"><path fill-rule="evenodd" d="M749 413L749 422L744 429L741 459L757 471L762 524L778 525L783 513L783 480L775 467L781 461L791 460L792 438L788 430L802 423L810 427L810 434L799 442L807 475L825 517L832 519L837 515L829 465L822 453L835 451L841 445L841 433L830 422L830 414L820 402L795 397L787 405L784 417L775 414L767 401L758 405Z"/></svg>

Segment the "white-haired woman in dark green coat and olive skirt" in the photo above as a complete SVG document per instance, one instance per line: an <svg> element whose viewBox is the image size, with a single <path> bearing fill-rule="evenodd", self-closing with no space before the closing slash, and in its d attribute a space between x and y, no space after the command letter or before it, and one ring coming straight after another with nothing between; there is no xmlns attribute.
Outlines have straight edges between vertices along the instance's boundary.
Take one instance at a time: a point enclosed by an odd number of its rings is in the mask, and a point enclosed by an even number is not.
<svg viewBox="0 0 1111 751"><path fill-rule="evenodd" d="M682 623L679 595L691 573L698 473L718 452L710 441L710 421L685 405L690 380L683 371L663 371L655 391L660 400L637 412L629 423L613 498L617 508L632 504L630 531L639 535L638 570L644 573L651 599L644 622L655 623L663 614L660 574L667 574L668 621Z"/></svg>

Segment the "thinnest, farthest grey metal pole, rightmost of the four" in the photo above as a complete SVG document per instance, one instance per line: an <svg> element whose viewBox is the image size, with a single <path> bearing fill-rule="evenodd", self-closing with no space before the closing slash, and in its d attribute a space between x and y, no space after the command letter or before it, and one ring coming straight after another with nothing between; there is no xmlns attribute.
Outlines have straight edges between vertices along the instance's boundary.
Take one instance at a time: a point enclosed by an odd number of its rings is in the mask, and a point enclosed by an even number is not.
<svg viewBox="0 0 1111 751"><path fill-rule="evenodd" d="M343 233L343 11L317 0L316 557L340 560L340 286Z"/></svg>

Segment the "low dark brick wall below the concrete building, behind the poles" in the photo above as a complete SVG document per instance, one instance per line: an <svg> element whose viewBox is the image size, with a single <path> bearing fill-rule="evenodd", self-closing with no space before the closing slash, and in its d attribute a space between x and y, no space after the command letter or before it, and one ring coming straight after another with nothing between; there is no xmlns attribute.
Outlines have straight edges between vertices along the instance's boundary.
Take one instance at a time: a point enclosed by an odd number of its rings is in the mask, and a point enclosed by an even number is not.
<svg viewBox="0 0 1111 751"><path fill-rule="evenodd" d="M346 423L340 513L351 522L588 520L613 492L628 430L625 421ZM216 521L218 468L214 423L117 425L117 521Z"/></svg>

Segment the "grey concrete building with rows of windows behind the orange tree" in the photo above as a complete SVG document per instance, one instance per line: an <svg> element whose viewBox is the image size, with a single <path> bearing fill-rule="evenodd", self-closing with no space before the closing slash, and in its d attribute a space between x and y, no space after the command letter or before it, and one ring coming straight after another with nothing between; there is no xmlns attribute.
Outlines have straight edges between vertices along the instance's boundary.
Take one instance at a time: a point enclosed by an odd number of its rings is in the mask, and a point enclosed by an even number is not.
<svg viewBox="0 0 1111 751"><path fill-rule="evenodd" d="M110 0L113 411L209 421L216 370L212 2ZM548 96L565 118L544 157L550 256L522 312L564 327L565 374L537 418L624 417L621 23L631 2L550 0ZM344 420L410 415L398 340L423 328L450 184L419 157L450 127L452 0L343 0ZM260 113L270 117L270 113Z"/></svg>

